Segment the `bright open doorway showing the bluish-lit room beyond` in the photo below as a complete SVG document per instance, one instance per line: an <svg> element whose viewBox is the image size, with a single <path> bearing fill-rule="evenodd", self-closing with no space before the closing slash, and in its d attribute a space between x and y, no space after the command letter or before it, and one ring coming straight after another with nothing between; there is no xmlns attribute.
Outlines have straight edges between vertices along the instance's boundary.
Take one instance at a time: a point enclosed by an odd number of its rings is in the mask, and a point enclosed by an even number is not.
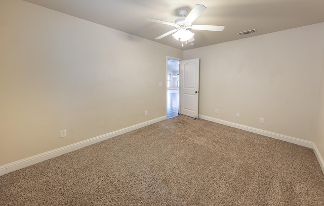
<svg viewBox="0 0 324 206"><path fill-rule="evenodd" d="M179 71L180 61L168 58L167 69L167 118L178 116L179 113Z"/></svg>

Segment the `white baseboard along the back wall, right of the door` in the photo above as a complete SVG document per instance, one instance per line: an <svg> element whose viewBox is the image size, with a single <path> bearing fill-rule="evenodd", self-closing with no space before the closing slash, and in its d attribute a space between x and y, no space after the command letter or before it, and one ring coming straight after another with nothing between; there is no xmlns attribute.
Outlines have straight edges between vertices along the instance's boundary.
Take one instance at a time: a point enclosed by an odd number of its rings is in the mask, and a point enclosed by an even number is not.
<svg viewBox="0 0 324 206"><path fill-rule="evenodd" d="M307 140L304 140L304 139L299 139L299 138L287 136L287 135L284 135L284 134L278 134L278 133L274 133L274 132L269 132L269 131L262 130L262 129L257 129L257 128L254 128L254 127L249 127L249 126L245 126L245 125L241 125L241 124L237 124L237 123L233 123L233 122L228 122L228 121L225 121L225 120L216 119L216 118L213 118L213 117L208 117L208 116L205 116L205 115L199 115L199 118L204 119L204 120L208 120L208 121L211 121L211 122L216 122L216 123L219 123L219 124L222 124L222 125L227 125L227 126L230 126L230 127L234 127L234 128L237 128L237 129L253 132L253 133L256 133L256 134L261 134L261 135L264 135L264 136L267 136L267 137L272 137L274 139L279 139L279 140L282 140L282 141L298 144L298 145L301 145L301 146L306 146L308 148L314 149L314 142L307 141Z"/></svg>

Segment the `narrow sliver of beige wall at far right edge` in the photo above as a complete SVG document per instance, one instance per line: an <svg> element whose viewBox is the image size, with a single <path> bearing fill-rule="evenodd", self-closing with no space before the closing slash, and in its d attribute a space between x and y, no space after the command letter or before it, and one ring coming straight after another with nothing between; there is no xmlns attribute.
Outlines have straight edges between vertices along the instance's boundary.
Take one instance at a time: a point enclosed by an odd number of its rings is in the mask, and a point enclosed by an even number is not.
<svg viewBox="0 0 324 206"><path fill-rule="evenodd" d="M320 93L319 93L318 116L317 116L314 142L322 159L324 159L324 54L323 54L321 84L320 84Z"/></svg>

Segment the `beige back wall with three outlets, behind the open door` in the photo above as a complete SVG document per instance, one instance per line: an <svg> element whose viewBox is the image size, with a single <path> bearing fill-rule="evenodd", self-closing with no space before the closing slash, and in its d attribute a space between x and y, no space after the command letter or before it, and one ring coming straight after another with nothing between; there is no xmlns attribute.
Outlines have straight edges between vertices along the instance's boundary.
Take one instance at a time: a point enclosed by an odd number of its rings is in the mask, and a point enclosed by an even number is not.
<svg viewBox="0 0 324 206"><path fill-rule="evenodd" d="M320 23L186 50L200 58L199 114L314 141L323 36Z"/></svg>

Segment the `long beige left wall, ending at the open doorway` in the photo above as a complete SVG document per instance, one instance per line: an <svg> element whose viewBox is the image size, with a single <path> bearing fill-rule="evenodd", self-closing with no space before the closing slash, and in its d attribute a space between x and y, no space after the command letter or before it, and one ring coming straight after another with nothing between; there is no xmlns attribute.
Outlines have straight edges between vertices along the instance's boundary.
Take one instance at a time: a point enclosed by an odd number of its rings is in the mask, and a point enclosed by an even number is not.
<svg viewBox="0 0 324 206"><path fill-rule="evenodd" d="M0 166L165 116L167 56L183 52L0 1Z"/></svg>

